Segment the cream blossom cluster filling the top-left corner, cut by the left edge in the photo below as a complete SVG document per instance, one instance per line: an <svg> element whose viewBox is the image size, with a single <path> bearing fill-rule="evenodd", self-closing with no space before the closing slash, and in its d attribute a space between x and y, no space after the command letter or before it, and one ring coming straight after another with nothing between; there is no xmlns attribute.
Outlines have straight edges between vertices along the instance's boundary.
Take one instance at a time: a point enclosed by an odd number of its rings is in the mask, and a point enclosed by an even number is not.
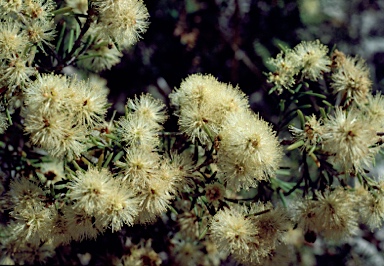
<svg viewBox="0 0 384 266"><path fill-rule="evenodd" d="M0 84L12 95L37 71L32 66L36 49L44 52L56 35L52 0L0 2Z"/></svg>

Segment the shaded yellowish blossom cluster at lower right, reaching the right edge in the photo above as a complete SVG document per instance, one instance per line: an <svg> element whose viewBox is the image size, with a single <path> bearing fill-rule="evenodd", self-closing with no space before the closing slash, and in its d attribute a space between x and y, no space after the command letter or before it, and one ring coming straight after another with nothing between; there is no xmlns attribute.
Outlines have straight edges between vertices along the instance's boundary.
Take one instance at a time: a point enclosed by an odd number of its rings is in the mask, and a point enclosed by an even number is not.
<svg viewBox="0 0 384 266"><path fill-rule="evenodd" d="M355 235L358 222L372 230L379 228L384 219L382 183L375 191L342 188L316 192L316 198L297 203L296 221L306 234L321 235L327 240L341 242ZM315 239L312 239L314 242Z"/></svg>

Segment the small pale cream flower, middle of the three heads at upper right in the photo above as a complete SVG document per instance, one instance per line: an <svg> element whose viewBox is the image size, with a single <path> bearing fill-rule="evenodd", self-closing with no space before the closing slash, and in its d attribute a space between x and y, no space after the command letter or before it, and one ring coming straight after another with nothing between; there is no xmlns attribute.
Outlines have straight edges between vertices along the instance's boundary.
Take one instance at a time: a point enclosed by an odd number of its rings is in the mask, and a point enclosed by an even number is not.
<svg viewBox="0 0 384 266"><path fill-rule="evenodd" d="M300 62L301 72L304 78L317 81L323 73L329 72L331 60L328 47L319 40L314 42L301 42L294 48L296 60Z"/></svg>

